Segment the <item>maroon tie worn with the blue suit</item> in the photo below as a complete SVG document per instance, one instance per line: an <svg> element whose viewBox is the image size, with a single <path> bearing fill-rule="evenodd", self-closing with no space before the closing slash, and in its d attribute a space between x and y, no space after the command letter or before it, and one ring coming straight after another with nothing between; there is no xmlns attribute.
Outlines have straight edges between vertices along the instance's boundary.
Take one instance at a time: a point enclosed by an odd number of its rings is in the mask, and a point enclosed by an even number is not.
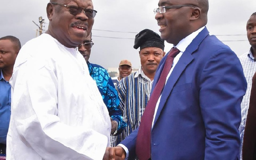
<svg viewBox="0 0 256 160"><path fill-rule="evenodd" d="M169 55L166 57L166 62L164 64L160 78L154 87L154 90L148 101L148 105L145 108L143 116L141 117L140 128L136 141L136 154L140 160L148 160L151 157L151 128L154 117L154 110L163 90L163 86L165 85L166 77L172 68L173 59L179 52L179 49L172 48L169 52Z"/></svg>

